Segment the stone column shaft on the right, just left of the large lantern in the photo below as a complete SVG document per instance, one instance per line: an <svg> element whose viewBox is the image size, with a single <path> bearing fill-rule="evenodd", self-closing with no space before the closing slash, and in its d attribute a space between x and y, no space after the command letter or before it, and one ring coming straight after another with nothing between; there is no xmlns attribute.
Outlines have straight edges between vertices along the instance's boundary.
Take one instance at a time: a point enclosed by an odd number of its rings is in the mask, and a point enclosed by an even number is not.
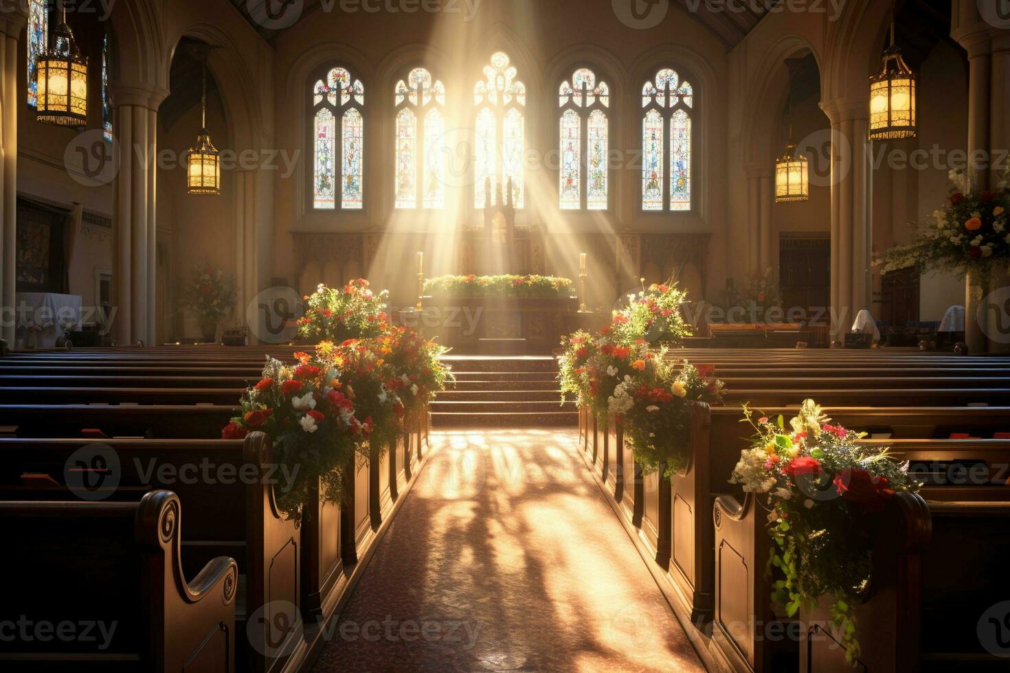
<svg viewBox="0 0 1010 673"><path fill-rule="evenodd" d="M821 107L831 120L831 336L838 339L872 301L870 98Z"/></svg>

